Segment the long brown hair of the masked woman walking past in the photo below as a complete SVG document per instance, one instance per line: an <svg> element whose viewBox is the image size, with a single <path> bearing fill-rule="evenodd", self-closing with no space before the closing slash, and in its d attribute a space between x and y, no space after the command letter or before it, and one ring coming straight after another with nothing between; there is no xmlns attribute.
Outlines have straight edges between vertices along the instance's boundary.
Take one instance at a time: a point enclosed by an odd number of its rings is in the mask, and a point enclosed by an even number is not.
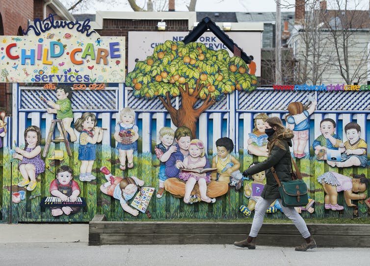
<svg viewBox="0 0 370 266"><path fill-rule="evenodd" d="M286 129L283 126L283 122L280 120L279 117L273 116L273 117L267 118L265 122L271 128L275 128L275 133L272 135L271 139L269 139L267 143L268 153L270 153L271 149L275 145L285 150L285 146L282 140L287 139L287 138L292 138L294 136L293 132L289 129Z"/></svg>

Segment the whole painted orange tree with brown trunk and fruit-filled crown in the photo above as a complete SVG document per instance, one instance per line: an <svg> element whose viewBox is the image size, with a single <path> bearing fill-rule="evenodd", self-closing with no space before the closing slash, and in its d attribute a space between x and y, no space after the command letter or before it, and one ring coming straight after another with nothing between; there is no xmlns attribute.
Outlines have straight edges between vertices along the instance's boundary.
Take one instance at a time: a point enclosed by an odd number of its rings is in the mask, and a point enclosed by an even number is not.
<svg viewBox="0 0 370 266"><path fill-rule="evenodd" d="M247 64L226 50L211 50L202 43L167 40L145 61L136 62L127 75L126 85L134 96L159 97L175 126L188 127L193 137L196 123L223 95L237 90L251 91L257 78L249 75ZM181 96L181 107L171 105L171 97ZM198 100L203 104L195 108Z"/></svg>

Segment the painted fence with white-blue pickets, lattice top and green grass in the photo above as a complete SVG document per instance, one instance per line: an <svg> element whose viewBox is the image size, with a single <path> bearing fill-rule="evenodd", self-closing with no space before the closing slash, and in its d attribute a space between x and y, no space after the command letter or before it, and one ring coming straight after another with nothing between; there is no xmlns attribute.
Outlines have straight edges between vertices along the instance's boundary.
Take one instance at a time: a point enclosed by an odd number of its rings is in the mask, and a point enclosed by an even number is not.
<svg viewBox="0 0 370 266"><path fill-rule="evenodd" d="M260 88L250 93L238 92L223 97L204 112L199 118L197 136L205 143L208 157L211 160L215 153L215 141L221 136L228 136L235 142L235 156L241 163L241 170L247 168L251 162L264 160L247 153L248 133L253 129L254 117L260 112L269 116L284 118L290 102L307 103L307 96L316 97L317 109L310 117L309 145L306 145L307 156L297 159L296 162L304 176L304 181L309 187L310 197L315 199L315 212L310 214L303 212L304 217L353 217L353 208L344 203L343 194L340 193L339 204L344 205L344 212L324 210L324 192L317 182L317 176L335 171L349 176L350 174L369 174L369 167L350 167L338 169L330 167L324 161L317 161L312 150L312 142L320 135L320 121L329 117L337 122L337 134L345 139L344 125L348 122L357 122L362 129L361 138L367 141L370 138L369 104L370 94L364 91L332 91L332 92L304 92L304 91L274 91ZM37 187L33 191L26 191L26 200L18 204L11 202L11 193L19 191L21 187L17 183L22 180L18 171L17 161L11 162L11 149L17 144L24 145L23 132L27 126L36 125L42 130L43 140L49 132L53 114L46 112L46 105L39 100L39 96L46 99L56 100L55 92L35 87L19 87L13 91L14 105L13 117L7 117L8 133L4 139L3 158L0 167L2 178L0 180L0 222L30 222L30 221L89 221L95 213L104 213L108 220L123 219L148 219L146 214L139 213L133 217L125 213L118 200L101 193L99 187L106 182L104 175L100 173L101 166L111 169L114 175L122 176L119 170L118 153L115 149L116 142L112 137L114 126L119 121L118 111L123 106L130 106L136 110L136 125L139 127L138 151L135 153L132 169L125 171L126 176L137 176L144 180L145 186L158 188L159 160L154 154L154 146L158 142L159 129L170 126L175 129L169 114L162 106L159 99L145 100L135 98L132 91L124 89L123 84L118 87L106 88L101 91L75 91L73 92L72 108L75 120L83 112L94 112L98 118L98 126L106 128L102 143L98 144L97 160L93 167L96 181L80 182L78 141L71 144L72 156L68 157L63 143L52 143L48 151L46 171L38 176ZM178 98L172 100L173 106L179 106ZM199 104L199 103L198 103ZM55 130L57 131L57 130ZM76 132L79 136L79 132ZM368 141L367 141L368 142ZM44 148L45 141L42 142ZM48 160L53 150L63 150L64 160ZM310 154L310 156L309 156ZM79 183L81 196L86 199L87 207L79 213L71 216L62 215L55 218L49 208L39 207L40 200L44 196L50 196L49 185L55 178L55 170L58 166L68 164L75 171L75 181ZM251 182L251 181L245 181ZM368 193L369 192L365 192ZM231 187L227 194L217 198L216 203L199 203L193 205L184 204L182 199L175 198L168 192L160 199L153 197L148 210L154 219L251 219L245 218L239 212L240 205L247 205L248 199L243 195L243 189L236 191ZM368 216L368 208L362 201L354 201L358 205L358 216ZM252 214L253 216L253 214ZM251 216L251 217L252 217ZM270 218L281 218L280 212L267 214Z"/></svg>

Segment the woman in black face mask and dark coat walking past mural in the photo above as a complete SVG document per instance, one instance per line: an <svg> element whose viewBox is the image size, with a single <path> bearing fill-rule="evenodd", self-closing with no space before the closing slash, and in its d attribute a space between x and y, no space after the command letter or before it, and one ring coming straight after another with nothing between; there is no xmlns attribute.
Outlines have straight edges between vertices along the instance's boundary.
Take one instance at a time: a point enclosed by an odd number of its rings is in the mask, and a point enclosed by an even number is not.
<svg viewBox="0 0 370 266"><path fill-rule="evenodd" d="M246 177L264 170L266 173L266 185L262 191L261 198L256 204L249 236L245 240L234 242L234 245L247 247L248 249L256 248L255 239L264 222L264 213L274 200L280 199L278 184L271 172L271 167L275 168L280 182L291 181L291 152L289 147L292 145L291 138L294 135L291 130L285 129L278 117L270 117L265 123L265 133L268 136L268 158L243 172L243 176ZM296 247L295 250L306 251L309 248L317 247L314 238L311 236L305 221L299 213L294 208L284 207L282 204L280 206L284 214L291 219L304 238L302 244Z"/></svg>

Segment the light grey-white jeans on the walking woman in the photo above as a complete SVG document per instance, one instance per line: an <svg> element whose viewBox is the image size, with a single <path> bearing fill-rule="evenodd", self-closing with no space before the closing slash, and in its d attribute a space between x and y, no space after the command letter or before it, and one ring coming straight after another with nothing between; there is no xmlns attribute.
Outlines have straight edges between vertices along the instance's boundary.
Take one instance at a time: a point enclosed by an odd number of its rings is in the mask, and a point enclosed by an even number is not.
<svg viewBox="0 0 370 266"><path fill-rule="evenodd" d="M267 208L274 202L274 199L264 199L260 198L255 207L254 218L252 221L251 231L249 236L252 238L257 237L258 232L261 229L262 224L264 223L264 213L266 213ZM279 203L281 200L279 199ZM308 238L311 236L310 232L308 231L307 225L301 215L294 208L284 207L280 204L283 212L291 221L294 223L295 227L298 229L299 233L301 233L303 238Z"/></svg>

